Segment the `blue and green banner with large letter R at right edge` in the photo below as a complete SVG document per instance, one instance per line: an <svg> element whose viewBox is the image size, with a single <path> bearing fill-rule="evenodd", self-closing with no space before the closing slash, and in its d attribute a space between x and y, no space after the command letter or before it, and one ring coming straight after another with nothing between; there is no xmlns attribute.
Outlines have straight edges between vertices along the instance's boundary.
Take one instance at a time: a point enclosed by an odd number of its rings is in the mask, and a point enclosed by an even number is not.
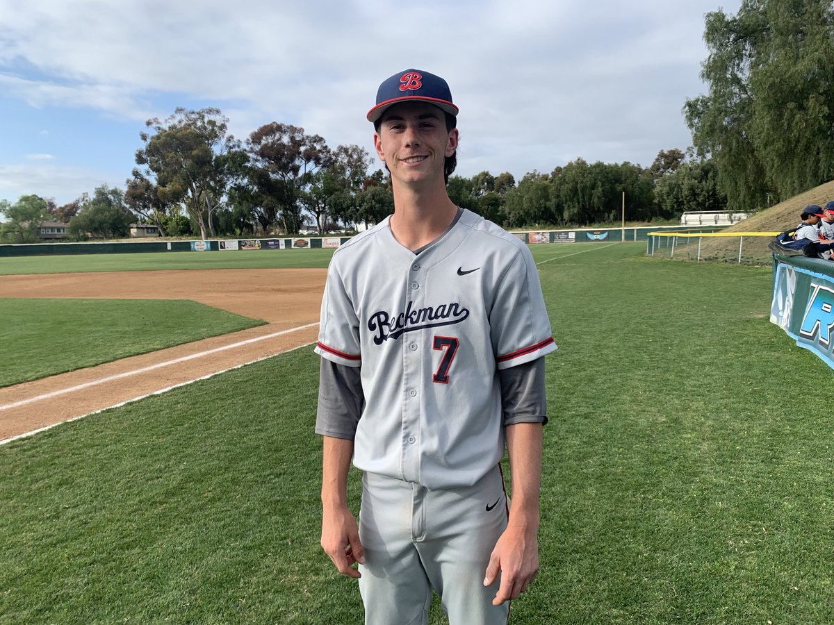
<svg viewBox="0 0 834 625"><path fill-rule="evenodd" d="M834 279L830 276L779 263L771 323L834 368Z"/></svg>

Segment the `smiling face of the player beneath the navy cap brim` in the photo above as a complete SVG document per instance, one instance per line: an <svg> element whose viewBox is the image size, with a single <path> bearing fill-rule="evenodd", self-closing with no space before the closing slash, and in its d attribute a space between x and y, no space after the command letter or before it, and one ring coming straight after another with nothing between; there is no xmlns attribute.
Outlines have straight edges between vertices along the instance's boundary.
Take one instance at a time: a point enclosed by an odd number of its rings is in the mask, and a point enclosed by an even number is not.
<svg viewBox="0 0 834 625"><path fill-rule="evenodd" d="M394 183L444 182L446 157L458 145L456 128L446 129L440 108L428 102L403 102L384 112L374 148Z"/></svg>

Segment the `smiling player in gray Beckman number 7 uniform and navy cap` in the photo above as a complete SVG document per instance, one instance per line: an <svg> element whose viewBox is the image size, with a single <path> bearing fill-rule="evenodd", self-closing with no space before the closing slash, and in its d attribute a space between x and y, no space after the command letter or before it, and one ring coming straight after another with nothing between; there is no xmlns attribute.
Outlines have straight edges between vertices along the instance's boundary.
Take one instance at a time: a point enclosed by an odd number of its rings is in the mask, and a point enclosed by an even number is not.
<svg viewBox="0 0 834 625"><path fill-rule="evenodd" d="M373 625L428 622L433 590L451 625L506 623L539 567L542 357L556 347L525 244L446 193L457 113L429 72L382 82L367 118L394 214L334 253L324 288L321 546L359 577Z"/></svg>

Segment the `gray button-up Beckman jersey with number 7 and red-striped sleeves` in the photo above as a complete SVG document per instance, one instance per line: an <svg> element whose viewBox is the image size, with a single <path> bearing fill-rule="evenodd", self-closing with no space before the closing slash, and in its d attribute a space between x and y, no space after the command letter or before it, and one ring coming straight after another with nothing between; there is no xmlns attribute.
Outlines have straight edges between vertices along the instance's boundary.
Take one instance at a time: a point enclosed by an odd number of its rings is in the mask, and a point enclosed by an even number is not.
<svg viewBox="0 0 834 625"><path fill-rule="evenodd" d="M418 255L387 218L334 253L315 351L361 367L354 465L365 472L477 483L504 455L496 371L555 348L530 251L475 213Z"/></svg>

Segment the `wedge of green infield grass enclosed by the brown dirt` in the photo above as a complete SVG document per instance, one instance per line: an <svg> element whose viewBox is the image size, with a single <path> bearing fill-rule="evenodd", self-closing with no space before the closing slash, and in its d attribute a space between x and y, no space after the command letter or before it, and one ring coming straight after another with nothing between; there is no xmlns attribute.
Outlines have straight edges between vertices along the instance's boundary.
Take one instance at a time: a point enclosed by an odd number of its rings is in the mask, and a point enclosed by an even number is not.
<svg viewBox="0 0 834 625"><path fill-rule="evenodd" d="M0 298L0 387L252 328L204 304L142 299Z"/></svg>

